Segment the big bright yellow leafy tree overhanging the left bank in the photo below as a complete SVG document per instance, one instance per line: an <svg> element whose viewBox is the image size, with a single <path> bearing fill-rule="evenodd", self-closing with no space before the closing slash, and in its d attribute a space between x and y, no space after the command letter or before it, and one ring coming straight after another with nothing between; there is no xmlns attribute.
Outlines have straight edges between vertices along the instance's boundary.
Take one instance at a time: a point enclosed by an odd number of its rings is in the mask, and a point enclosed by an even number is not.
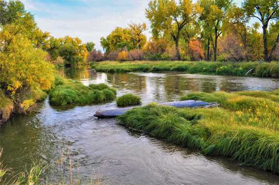
<svg viewBox="0 0 279 185"><path fill-rule="evenodd" d="M21 24L25 22L15 21L0 31L0 87L14 98L36 87L49 90L54 82L47 53L35 48L29 34L17 30L23 28Z"/></svg>

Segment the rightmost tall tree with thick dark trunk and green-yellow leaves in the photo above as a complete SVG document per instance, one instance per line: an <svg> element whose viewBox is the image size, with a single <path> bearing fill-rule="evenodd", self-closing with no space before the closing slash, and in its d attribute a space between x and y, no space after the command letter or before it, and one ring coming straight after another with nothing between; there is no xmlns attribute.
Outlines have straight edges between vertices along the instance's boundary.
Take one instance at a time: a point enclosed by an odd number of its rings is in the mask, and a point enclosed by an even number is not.
<svg viewBox="0 0 279 185"><path fill-rule="evenodd" d="M256 18L260 21L263 28L263 54L264 61L269 61L268 53L268 24L272 20L279 19L279 2L278 0L245 0L243 8L249 18ZM279 32L278 32L279 37ZM275 47L279 39L275 42ZM272 53L270 53L272 55Z"/></svg>

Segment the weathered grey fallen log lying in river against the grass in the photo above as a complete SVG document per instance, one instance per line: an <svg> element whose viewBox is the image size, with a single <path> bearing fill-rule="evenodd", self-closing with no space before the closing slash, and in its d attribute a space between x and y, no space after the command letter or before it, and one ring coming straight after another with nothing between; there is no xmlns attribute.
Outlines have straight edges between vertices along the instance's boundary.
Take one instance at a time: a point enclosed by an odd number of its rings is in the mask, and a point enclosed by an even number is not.
<svg viewBox="0 0 279 185"><path fill-rule="evenodd" d="M160 103L158 105L171 106L176 108L210 108L210 107L218 106L217 102L208 103L208 102L195 101L195 100L167 102L167 103ZM123 115L126 111L131 110L132 108L139 108L139 107L115 108L110 110L103 110L103 111L96 112L94 116L97 117L98 119L115 118L117 116Z"/></svg>

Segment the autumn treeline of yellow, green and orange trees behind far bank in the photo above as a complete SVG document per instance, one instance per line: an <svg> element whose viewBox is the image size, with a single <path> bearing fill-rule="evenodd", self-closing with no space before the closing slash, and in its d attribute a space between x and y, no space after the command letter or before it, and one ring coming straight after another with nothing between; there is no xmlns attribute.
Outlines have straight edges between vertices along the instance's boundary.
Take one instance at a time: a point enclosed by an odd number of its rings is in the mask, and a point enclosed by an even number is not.
<svg viewBox="0 0 279 185"><path fill-rule="evenodd" d="M279 60L278 0L150 0L145 15L149 29L115 28L89 60Z"/></svg>

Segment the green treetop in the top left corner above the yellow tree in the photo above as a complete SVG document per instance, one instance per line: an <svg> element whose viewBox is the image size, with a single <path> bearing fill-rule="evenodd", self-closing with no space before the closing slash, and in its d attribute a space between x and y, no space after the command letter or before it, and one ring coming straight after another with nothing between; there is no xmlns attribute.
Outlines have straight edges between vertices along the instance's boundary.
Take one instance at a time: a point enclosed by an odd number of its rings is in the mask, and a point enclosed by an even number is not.
<svg viewBox="0 0 279 185"><path fill-rule="evenodd" d="M25 7L19 0L0 0L0 25L12 23L24 14Z"/></svg>

